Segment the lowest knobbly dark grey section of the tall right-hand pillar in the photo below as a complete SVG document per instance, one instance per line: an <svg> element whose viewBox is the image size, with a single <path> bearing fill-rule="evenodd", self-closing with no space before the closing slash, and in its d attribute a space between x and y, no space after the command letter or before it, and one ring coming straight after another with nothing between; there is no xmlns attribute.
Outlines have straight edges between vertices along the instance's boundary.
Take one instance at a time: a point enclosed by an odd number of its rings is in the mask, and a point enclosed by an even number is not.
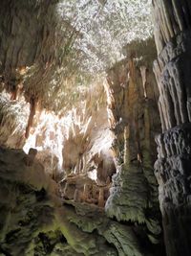
<svg viewBox="0 0 191 256"><path fill-rule="evenodd" d="M190 255L191 125L159 135L155 164L168 255Z"/></svg>

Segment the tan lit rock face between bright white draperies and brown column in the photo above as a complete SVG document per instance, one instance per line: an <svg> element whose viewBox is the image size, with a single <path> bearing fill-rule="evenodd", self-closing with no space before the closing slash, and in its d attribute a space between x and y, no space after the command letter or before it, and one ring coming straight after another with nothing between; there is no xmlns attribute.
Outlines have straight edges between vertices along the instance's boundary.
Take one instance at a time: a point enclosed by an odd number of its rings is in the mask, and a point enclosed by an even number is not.
<svg viewBox="0 0 191 256"><path fill-rule="evenodd" d="M92 102L98 104L94 98ZM116 172L110 151L114 136L109 129L106 106L99 107L92 111L91 108L81 109L89 118L78 124L71 123L68 136L63 141L63 168L67 175L87 175L91 170L96 170L100 182L106 182L107 177ZM76 118L82 119L82 115Z"/></svg>

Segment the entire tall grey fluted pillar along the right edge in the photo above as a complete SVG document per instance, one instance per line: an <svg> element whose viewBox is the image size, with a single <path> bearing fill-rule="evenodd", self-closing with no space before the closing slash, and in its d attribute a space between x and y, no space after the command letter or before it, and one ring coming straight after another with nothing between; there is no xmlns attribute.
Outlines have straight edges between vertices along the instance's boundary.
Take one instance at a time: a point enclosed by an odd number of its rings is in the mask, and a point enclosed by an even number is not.
<svg viewBox="0 0 191 256"><path fill-rule="evenodd" d="M157 138L159 203L168 256L191 254L191 5L190 1L153 1L163 133Z"/></svg>

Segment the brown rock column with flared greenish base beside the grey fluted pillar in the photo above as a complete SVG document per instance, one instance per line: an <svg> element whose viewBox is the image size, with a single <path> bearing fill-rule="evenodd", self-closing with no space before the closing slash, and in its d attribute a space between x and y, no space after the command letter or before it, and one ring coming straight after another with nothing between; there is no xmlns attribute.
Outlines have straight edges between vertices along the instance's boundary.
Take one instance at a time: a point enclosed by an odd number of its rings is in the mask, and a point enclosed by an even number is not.
<svg viewBox="0 0 191 256"><path fill-rule="evenodd" d="M155 44L141 42L136 46L139 52L133 48L129 46L129 58L108 72L108 110L118 167L106 212L117 221L143 224L150 241L158 244L161 228L153 165L157 157L154 136L160 130L159 94L152 55L147 52L150 49L155 56Z"/></svg>

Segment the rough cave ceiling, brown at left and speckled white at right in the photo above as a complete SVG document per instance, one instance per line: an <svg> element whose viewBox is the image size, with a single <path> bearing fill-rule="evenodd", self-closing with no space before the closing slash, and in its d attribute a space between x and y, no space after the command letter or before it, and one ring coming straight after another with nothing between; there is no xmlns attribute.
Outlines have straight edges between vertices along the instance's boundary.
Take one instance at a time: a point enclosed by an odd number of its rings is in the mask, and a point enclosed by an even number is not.
<svg viewBox="0 0 191 256"><path fill-rule="evenodd" d="M3 1L1 88L59 111L81 101L92 81L152 35L150 1ZM9 29L9 30L8 30ZM13 42L13 43L12 43Z"/></svg>

